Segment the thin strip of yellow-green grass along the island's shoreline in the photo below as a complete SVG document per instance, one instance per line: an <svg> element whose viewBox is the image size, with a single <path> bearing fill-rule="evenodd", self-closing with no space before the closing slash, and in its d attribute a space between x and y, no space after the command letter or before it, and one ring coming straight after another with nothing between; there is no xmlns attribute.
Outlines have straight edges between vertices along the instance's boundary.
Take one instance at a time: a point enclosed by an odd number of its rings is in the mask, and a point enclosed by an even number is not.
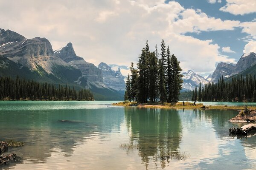
<svg viewBox="0 0 256 170"><path fill-rule="evenodd" d="M129 105L135 105L138 104L137 102L119 102L119 103L113 103L112 105L116 106L129 106ZM177 102L177 103L167 103L164 102L163 105L161 102L154 102L154 103L143 103L142 105L138 105L139 108L177 108L177 109L195 109L195 108L201 108L204 105L200 102L196 102L196 106L193 106L194 103L192 102L185 102L185 105L183 106L183 102ZM256 109L256 106L250 106L251 109ZM227 105L205 105L205 109L244 109L244 106L227 106Z"/></svg>

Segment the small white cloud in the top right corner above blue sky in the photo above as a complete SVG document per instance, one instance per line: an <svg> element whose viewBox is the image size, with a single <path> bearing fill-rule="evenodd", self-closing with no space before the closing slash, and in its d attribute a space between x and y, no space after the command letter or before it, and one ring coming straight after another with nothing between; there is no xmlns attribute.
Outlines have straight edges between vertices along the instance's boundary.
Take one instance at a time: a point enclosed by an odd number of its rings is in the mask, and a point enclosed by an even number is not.
<svg viewBox="0 0 256 170"><path fill-rule="evenodd" d="M244 15L256 12L255 0L226 0L227 4L220 11L229 12L234 15Z"/></svg>

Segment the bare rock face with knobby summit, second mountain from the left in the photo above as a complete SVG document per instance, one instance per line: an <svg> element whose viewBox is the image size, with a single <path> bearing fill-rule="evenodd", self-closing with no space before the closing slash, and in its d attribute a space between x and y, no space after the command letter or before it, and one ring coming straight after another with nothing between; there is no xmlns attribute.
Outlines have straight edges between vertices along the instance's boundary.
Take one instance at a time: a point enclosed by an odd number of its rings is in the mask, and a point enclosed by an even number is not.
<svg viewBox="0 0 256 170"><path fill-rule="evenodd" d="M71 42L66 47L54 51L62 60L72 65L82 73L82 77L90 82L103 82L102 72L92 63L84 61L82 57L76 55Z"/></svg>

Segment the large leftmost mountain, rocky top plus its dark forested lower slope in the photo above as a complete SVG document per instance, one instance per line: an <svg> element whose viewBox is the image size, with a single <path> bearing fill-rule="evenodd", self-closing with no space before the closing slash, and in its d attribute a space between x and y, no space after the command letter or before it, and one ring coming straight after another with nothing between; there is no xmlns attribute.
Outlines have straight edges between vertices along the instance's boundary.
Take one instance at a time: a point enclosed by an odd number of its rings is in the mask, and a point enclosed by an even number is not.
<svg viewBox="0 0 256 170"><path fill-rule="evenodd" d="M0 68L2 75L22 76L20 72L26 70L27 79L52 83L72 83L81 76L79 70L54 54L46 38L26 39L16 32L0 29L0 54L4 57L2 62L8 63Z"/></svg>

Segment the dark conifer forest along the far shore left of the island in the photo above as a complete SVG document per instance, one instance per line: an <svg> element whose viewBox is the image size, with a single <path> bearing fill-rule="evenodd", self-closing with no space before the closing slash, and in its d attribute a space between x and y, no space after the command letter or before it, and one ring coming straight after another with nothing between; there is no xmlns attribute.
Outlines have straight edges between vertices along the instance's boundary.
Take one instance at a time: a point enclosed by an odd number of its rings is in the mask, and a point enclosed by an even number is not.
<svg viewBox="0 0 256 170"><path fill-rule="evenodd" d="M47 82L0 77L0 100L93 100L88 89L76 91L69 86L58 88Z"/></svg>

